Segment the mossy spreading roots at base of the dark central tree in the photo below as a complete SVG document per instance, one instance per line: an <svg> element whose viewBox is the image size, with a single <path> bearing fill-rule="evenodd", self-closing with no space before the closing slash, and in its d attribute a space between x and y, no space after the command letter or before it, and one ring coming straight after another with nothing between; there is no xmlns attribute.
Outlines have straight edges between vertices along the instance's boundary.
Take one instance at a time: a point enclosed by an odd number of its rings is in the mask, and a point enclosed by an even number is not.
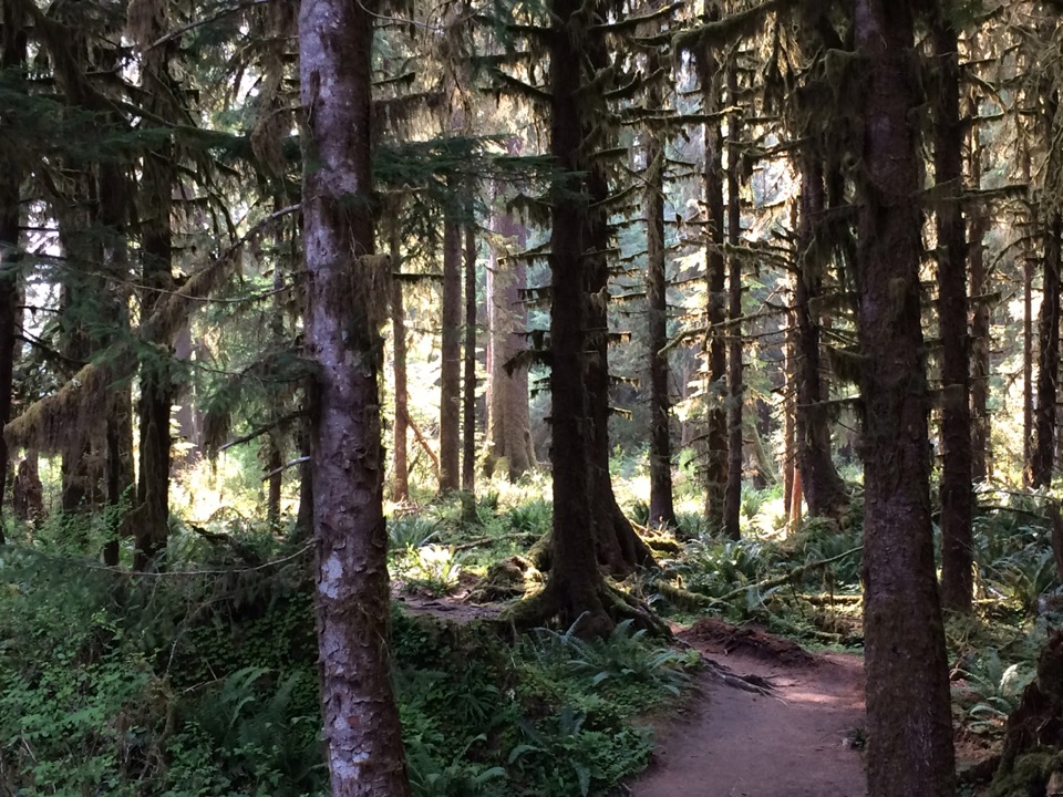
<svg viewBox="0 0 1063 797"><path fill-rule="evenodd" d="M566 628L576 624L580 636L605 636L621 620L631 620L636 628L665 639L672 636L668 624L648 605L605 582L587 590L579 600L547 584L546 589L508 607L499 617L500 622L517 631L554 621Z"/></svg>

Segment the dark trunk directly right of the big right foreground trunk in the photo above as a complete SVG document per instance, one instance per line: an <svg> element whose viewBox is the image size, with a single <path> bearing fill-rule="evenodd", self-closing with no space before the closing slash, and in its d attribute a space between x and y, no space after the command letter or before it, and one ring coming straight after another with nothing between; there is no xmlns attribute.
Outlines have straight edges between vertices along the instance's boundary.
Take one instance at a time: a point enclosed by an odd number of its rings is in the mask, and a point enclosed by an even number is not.
<svg viewBox="0 0 1063 797"><path fill-rule="evenodd" d="M969 614L974 548L971 515L970 343L967 300L967 227L963 189L963 125L960 120L960 56L956 29L933 22L938 96L935 103L933 168L938 189L938 324L941 364L941 605Z"/></svg>

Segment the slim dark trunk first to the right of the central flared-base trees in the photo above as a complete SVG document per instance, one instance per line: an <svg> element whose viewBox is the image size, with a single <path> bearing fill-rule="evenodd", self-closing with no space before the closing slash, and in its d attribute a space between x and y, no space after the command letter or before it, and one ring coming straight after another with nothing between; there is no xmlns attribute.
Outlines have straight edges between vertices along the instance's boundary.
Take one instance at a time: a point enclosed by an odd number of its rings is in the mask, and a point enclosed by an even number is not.
<svg viewBox="0 0 1063 797"><path fill-rule="evenodd" d="M656 70L650 70L651 72ZM656 87L647 102L658 107ZM664 147L659 133L646 133L646 188L642 213L646 216L646 304L647 371L650 379L650 522L675 525L672 501L671 397L669 395L668 354L668 273L664 257Z"/></svg>

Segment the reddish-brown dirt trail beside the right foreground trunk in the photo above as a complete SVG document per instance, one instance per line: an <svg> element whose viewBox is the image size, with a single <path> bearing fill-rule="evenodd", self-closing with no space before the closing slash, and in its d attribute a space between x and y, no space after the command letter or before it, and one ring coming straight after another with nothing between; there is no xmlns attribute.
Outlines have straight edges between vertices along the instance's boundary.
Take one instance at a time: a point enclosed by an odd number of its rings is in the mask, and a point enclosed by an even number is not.
<svg viewBox="0 0 1063 797"><path fill-rule="evenodd" d="M633 797L865 797L853 748L864 726L863 662L701 621L680 634L710 667L684 716L662 727ZM749 691L734 675L772 689Z"/></svg>

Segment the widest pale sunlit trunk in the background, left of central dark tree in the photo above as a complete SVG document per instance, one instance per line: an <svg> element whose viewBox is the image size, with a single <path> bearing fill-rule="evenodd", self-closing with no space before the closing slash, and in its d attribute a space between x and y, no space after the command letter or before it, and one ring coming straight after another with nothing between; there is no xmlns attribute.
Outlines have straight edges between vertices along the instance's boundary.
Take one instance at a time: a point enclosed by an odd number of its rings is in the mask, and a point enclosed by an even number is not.
<svg viewBox="0 0 1063 797"><path fill-rule="evenodd" d="M494 231L524 245L524 230L508 216L496 216ZM527 325L527 309L519 291L525 287L525 267L520 258L504 262L491 247L487 263L487 441L488 475L504 466L513 480L536 465L528 412L527 365L506 364L526 348L522 337Z"/></svg>

